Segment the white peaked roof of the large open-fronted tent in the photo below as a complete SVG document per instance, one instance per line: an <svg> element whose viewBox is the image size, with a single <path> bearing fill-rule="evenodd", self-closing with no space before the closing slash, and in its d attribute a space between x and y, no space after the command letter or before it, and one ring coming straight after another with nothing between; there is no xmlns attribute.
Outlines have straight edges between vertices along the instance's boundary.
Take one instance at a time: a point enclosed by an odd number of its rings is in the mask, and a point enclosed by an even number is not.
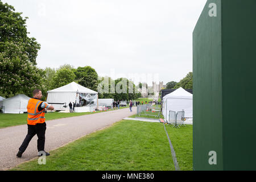
<svg viewBox="0 0 256 182"><path fill-rule="evenodd" d="M76 82L71 82L70 84L61 86L59 88L49 90L47 93L67 93L67 92L75 92L75 93L94 93L97 94L98 92L95 92L91 89L88 89L82 85L77 84Z"/></svg>

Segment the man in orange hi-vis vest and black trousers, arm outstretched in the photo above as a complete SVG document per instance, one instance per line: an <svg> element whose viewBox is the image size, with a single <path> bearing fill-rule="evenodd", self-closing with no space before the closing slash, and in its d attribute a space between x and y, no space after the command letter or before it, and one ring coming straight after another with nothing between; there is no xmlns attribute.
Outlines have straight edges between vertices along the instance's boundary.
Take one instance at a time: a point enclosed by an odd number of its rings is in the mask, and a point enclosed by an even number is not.
<svg viewBox="0 0 256 182"><path fill-rule="evenodd" d="M27 104L27 126L28 132L27 136L24 139L22 145L19 147L18 154L16 156L21 158L23 152L26 150L30 140L38 135L38 156L43 154L49 155L48 152L44 151L44 142L46 140L46 118L44 114L46 113L46 109L53 110L54 107L47 104L47 102L43 102L40 99L42 98L42 91L39 89L35 89L33 91L33 98L28 100Z"/></svg>

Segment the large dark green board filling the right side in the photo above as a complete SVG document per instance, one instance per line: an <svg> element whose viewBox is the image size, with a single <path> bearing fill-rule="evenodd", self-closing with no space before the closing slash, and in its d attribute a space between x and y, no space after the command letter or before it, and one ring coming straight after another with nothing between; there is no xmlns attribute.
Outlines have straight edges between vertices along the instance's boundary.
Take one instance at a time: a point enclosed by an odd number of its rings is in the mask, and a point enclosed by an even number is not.
<svg viewBox="0 0 256 182"><path fill-rule="evenodd" d="M193 169L256 169L255 94L256 0L207 1L193 31Z"/></svg>

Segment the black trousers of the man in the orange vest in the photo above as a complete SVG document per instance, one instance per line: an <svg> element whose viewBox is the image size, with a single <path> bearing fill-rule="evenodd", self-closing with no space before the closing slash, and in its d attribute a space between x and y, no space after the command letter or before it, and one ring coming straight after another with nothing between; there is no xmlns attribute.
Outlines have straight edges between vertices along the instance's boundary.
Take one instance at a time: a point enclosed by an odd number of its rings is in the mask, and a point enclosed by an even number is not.
<svg viewBox="0 0 256 182"><path fill-rule="evenodd" d="M27 136L24 139L22 145L19 147L20 152L24 152L30 143L30 140L38 135L38 151L44 151L44 142L46 141L46 122L37 123L36 125L27 125Z"/></svg>

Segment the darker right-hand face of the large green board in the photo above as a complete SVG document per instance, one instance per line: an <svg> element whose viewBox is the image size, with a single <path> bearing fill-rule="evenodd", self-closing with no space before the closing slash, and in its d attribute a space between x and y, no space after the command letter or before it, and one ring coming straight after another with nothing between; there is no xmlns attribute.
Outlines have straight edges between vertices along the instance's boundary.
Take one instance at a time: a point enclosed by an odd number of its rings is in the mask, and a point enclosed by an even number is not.
<svg viewBox="0 0 256 182"><path fill-rule="evenodd" d="M222 1L224 169L256 169L256 1Z"/></svg>

